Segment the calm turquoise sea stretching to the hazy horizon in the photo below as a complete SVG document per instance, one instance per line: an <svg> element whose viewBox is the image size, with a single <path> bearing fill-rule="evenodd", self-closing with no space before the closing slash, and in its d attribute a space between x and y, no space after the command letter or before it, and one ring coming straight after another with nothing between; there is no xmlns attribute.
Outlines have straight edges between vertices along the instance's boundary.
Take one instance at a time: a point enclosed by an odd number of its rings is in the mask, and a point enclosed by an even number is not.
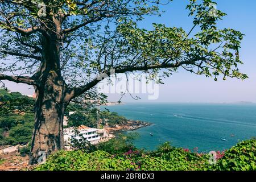
<svg viewBox="0 0 256 182"><path fill-rule="evenodd" d="M134 140L134 144L146 150L170 141L173 146L191 150L198 147L201 152L222 151L240 140L256 137L256 104L150 103L106 108L129 119L154 123L136 130L141 137Z"/></svg>

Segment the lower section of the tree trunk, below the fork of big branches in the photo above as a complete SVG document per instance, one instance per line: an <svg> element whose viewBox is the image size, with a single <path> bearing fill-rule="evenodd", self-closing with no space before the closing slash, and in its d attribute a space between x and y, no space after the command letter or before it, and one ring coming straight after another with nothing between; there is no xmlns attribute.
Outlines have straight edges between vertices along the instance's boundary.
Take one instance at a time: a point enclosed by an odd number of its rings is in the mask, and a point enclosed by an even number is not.
<svg viewBox="0 0 256 182"><path fill-rule="evenodd" d="M40 163L52 152L64 149L63 117L68 105L64 102L64 89L61 85L47 83L44 89L35 90L35 126L30 164Z"/></svg>

